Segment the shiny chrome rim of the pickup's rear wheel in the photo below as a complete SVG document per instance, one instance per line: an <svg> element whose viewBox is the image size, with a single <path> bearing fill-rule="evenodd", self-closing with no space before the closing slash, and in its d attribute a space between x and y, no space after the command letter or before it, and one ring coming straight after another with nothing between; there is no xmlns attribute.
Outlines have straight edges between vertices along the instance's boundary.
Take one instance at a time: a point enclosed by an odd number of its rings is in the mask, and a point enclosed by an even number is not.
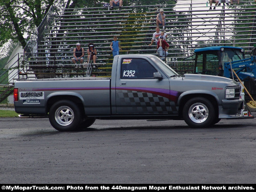
<svg viewBox="0 0 256 192"><path fill-rule="evenodd" d="M60 106L54 116L56 122L62 126L70 125L74 120L74 112L69 106Z"/></svg>

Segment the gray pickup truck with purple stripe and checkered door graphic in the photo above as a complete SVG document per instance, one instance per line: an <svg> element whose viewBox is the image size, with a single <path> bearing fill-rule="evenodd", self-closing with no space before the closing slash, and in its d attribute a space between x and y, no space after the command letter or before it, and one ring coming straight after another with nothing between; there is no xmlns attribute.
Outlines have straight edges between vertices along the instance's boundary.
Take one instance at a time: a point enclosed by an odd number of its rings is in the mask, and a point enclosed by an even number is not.
<svg viewBox="0 0 256 192"><path fill-rule="evenodd" d="M58 131L75 131L95 119L184 119L208 127L241 117L244 104L232 79L180 76L157 56L117 55L111 78L18 80L14 105L25 116L48 116Z"/></svg>

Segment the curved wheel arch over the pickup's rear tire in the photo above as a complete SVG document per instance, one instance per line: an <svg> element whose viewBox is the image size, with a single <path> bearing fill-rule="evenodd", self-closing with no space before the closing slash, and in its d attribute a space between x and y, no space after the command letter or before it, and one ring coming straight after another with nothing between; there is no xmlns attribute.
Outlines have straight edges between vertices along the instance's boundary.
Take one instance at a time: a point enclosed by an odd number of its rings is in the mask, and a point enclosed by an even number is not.
<svg viewBox="0 0 256 192"><path fill-rule="evenodd" d="M57 102L57 101L60 101L60 100L70 100L70 101L76 103L79 110L84 114L83 104L82 104L82 101L80 100L80 98L76 97L76 96L70 96L70 95L59 95L59 96L51 97L47 101L47 105L46 105L47 106L47 108L46 108L47 111L46 112L49 113L52 104Z"/></svg>

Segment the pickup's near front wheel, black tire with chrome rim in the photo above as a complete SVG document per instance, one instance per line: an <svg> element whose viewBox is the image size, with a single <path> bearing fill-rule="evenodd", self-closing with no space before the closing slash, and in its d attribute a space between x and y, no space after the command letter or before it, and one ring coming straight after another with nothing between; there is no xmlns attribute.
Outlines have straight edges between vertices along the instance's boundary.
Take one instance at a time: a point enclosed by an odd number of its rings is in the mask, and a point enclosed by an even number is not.
<svg viewBox="0 0 256 192"><path fill-rule="evenodd" d="M195 97L189 99L183 108L183 119L190 127L208 127L216 119L215 108L206 98Z"/></svg>

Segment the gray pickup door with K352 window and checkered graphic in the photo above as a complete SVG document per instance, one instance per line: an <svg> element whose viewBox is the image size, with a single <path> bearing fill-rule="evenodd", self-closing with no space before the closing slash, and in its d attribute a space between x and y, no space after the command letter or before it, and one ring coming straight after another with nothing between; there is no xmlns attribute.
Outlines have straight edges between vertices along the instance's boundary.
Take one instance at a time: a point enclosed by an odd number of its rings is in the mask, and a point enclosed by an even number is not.
<svg viewBox="0 0 256 192"><path fill-rule="evenodd" d="M169 80L154 79L158 70L146 59L121 61L120 78L116 78L117 114L167 114Z"/></svg>

